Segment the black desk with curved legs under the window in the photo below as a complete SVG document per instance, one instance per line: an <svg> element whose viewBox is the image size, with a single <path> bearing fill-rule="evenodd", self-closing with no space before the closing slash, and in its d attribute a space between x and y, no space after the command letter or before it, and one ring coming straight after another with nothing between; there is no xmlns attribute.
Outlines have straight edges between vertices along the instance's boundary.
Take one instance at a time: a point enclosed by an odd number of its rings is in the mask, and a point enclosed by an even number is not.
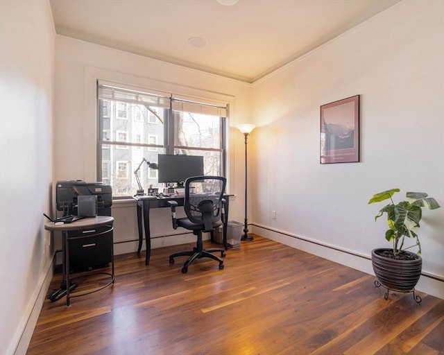
<svg viewBox="0 0 444 355"><path fill-rule="evenodd" d="M168 201L178 202L178 206L183 206L183 197L168 197L168 198L157 198L155 196L134 196L137 201L137 228L139 230L139 247L137 248L137 253L140 254L142 250L143 242L143 229L145 230L145 241L146 241L146 257L145 265L150 264L151 257L151 232L150 232L150 209L152 208L171 208ZM229 207L229 196L223 196L225 198L225 223L223 224L223 245L225 250L228 250L227 244L227 223L228 223L228 207ZM143 224L142 224L143 222ZM143 225L143 227L142 227ZM213 235L212 235L213 240Z"/></svg>

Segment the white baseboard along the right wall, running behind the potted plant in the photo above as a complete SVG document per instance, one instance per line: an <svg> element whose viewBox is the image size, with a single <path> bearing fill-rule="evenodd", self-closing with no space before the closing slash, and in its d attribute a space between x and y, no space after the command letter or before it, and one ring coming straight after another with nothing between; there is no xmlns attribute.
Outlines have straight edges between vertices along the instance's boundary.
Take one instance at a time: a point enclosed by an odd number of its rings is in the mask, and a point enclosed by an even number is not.
<svg viewBox="0 0 444 355"><path fill-rule="evenodd" d="M352 250L345 250L335 245L327 245L318 241L310 240L304 237L291 235L280 230L273 230L270 227L262 225L252 225L253 233L264 236L265 238L277 241L292 248L309 252L318 257L340 263L341 265L366 272L369 275L375 275L373 272L370 253L368 255L359 254ZM444 282L440 277L434 275L423 275L420 277L416 289L429 295L444 299Z"/></svg>

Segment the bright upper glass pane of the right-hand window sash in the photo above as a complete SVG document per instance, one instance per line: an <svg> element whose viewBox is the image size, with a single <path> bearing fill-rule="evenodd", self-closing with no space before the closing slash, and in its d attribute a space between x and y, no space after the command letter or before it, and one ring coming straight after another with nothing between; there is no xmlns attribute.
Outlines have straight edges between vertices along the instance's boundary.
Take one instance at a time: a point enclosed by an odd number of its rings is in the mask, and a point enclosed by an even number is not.
<svg viewBox="0 0 444 355"><path fill-rule="evenodd" d="M207 114L174 112L174 146L221 148L221 118Z"/></svg>

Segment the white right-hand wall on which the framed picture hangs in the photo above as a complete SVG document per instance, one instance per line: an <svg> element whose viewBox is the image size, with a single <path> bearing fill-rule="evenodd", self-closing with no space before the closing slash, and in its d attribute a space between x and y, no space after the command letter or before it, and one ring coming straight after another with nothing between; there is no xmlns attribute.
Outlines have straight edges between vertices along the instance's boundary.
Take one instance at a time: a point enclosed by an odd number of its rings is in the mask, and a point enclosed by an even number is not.
<svg viewBox="0 0 444 355"><path fill-rule="evenodd" d="M424 191L443 208L423 211L423 271L444 278L443 17L443 1L402 1L255 83L253 223L272 230L255 232L371 272L366 259L293 236L370 257L389 246L373 193ZM357 94L361 162L319 164L320 106ZM418 288L444 297L429 281Z"/></svg>

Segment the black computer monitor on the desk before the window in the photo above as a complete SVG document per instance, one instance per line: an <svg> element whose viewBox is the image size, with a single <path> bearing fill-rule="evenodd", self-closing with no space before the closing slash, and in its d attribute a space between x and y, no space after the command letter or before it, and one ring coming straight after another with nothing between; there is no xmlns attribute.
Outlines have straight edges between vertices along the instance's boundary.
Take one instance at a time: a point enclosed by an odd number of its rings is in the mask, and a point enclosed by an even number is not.
<svg viewBox="0 0 444 355"><path fill-rule="evenodd" d="M157 165L159 182L175 183L178 187L183 187L191 176L203 175L203 157L200 155L159 154Z"/></svg>

